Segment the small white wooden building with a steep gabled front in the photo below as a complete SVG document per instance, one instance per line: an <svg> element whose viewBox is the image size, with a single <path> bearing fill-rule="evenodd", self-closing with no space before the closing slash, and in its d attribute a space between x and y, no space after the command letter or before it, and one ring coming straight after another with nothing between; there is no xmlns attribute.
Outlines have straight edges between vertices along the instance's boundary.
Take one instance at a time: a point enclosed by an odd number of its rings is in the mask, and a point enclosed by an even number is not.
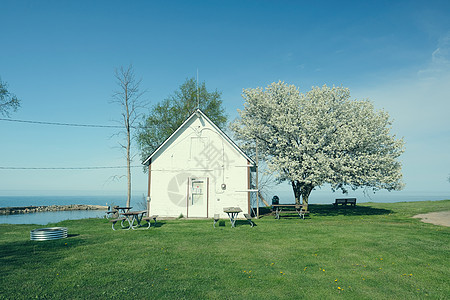
<svg viewBox="0 0 450 300"><path fill-rule="evenodd" d="M199 109L143 164L151 214L225 218L224 207L251 213L255 163Z"/></svg>

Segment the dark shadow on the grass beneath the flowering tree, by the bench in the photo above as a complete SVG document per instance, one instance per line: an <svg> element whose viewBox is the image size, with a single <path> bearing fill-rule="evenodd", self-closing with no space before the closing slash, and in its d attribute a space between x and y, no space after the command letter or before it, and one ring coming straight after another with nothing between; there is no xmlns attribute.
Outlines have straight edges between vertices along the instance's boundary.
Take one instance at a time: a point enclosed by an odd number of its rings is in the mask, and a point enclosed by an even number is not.
<svg viewBox="0 0 450 300"><path fill-rule="evenodd" d="M332 204L310 204L308 210L315 216L370 216L388 215L392 210L370 206L347 206L335 208Z"/></svg>

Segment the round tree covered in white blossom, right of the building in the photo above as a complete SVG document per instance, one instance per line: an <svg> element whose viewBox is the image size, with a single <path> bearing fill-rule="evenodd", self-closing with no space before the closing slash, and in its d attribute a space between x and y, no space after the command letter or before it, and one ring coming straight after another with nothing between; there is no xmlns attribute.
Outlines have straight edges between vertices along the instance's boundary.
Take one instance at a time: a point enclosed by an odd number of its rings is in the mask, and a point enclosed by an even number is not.
<svg viewBox="0 0 450 300"><path fill-rule="evenodd" d="M308 207L315 187L333 191L403 187L403 139L390 133L392 121L367 100L350 100L347 88L272 83L245 89L244 110L231 128L243 147L255 142L279 182L289 181L297 204Z"/></svg>

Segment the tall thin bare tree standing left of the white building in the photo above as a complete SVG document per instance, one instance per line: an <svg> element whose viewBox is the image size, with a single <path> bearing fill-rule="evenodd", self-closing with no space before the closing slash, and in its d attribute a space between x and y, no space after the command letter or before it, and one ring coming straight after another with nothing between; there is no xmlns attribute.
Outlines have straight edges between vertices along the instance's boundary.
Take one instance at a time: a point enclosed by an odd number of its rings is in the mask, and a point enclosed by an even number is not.
<svg viewBox="0 0 450 300"><path fill-rule="evenodd" d="M132 65L128 66L126 69L123 67L116 69L115 77L119 89L114 92L111 103L119 104L122 109L122 118L120 123L123 125L124 129L120 133L125 133L126 142L124 144L120 144L120 146L125 149L127 156L127 206L130 206L132 161L131 142L133 137L131 131L134 129L134 123L136 120L141 117L141 113L139 111L145 107L145 103L141 99L145 91L141 92L139 90L141 80L136 80Z"/></svg>

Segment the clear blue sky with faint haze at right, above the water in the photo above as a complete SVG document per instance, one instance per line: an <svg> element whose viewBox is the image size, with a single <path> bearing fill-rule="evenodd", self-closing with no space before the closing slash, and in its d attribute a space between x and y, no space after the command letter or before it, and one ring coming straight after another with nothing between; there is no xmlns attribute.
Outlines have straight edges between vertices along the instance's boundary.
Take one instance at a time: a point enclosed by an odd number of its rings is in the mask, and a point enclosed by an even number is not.
<svg viewBox="0 0 450 300"><path fill-rule="evenodd" d="M22 100L13 119L102 125L120 117L114 70L129 64L150 104L198 69L230 119L243 88L342 85L394 119L405 192L450 197L449 16L448 1L2 1L0 77ZM0 121L0 166L124 165L115 132ZM0 170L0 195L122 193L123 174Z"/></svg>

